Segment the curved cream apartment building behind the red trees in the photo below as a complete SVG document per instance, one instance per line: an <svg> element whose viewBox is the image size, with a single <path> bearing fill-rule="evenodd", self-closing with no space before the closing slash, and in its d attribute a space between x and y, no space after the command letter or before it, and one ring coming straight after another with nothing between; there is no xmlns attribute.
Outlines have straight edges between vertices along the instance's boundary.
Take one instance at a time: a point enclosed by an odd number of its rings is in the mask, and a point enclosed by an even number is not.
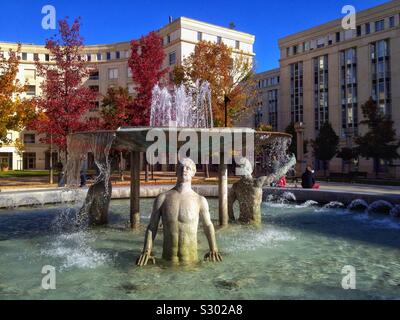
<svg viewBox="0 0 400 320"><path fill-rule="evenodd" d="M163 38L166 54L163 67L169 68L170 71L175 65L181 64L194 51L196 44L202 40L225 43L233 49L234 54L245 55L249 59L253 59L255 55L253 35L193 19L180 17L170 20L169 24L157 32ZM0 54L6 56L10 48L16 50L17 44L0 42ZM28 82L26 96L40 95L40 84L43 79L36 75L34 59L38 57L43 62L51 63L49 52L44 46L28 44L22 45L21 52L18 78L22 83ZM105 95L110 87L125 87L128 88L130 94L134 95L135 86L128 67L130 54L130 41L85 47L86 61L96 70L91 73L85 85L99 92L97 108L100 106L102 95ZM91 113L95 115L97 110L94 109ZM24 142L24 151L22 154L18 152L14 143L2 146L0 162L9 163L9 167L15 170L49 168L50 146L40 143L40 137L35 132L10 132L9 138L13 141L17 138L21 139ZM58 156L57 152L53 154L54 162L58 160Z"/></svg>

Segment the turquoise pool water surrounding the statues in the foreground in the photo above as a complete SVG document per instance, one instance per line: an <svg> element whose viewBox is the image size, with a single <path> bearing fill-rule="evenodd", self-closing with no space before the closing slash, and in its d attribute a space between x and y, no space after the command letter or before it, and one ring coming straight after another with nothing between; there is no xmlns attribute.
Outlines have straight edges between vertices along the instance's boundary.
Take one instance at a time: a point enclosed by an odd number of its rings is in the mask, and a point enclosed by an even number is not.
<svg viewBox="0 0 400 320"><path fill-rule="evenodd" d="M217 200L210 199L214 218ZM142 200L143 222L152 200ZM73 208L0 211L0 299L399 299L400 219L343 209L264 203L260 228L217 231L224 261L137 268L144 228L127 228L128 201L113 201L110 225L70 228ZM161 257L162 234L154 254ZM207 252L199 228L199 256ZM41 288L45 265L56 290ZM342 268L356 290L342 288Z"/></svg>

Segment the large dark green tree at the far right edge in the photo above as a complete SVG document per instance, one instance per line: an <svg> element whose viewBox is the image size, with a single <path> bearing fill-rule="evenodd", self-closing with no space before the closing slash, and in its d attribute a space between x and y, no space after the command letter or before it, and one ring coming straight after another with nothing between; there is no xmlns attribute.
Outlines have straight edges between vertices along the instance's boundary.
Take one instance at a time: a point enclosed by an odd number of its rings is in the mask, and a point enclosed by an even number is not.
<svg viewBox="0 0 400 320"><path fill-rule="evenodd" d="M356 150L361 156L374 160L374 171L378 177L380 160L391 161L400 158L398 153L400 143L396 138L393 121L380 112L372 98L361 108L364 120L360 124L366 125L369 131L355 139L358 145Z"/></svg>

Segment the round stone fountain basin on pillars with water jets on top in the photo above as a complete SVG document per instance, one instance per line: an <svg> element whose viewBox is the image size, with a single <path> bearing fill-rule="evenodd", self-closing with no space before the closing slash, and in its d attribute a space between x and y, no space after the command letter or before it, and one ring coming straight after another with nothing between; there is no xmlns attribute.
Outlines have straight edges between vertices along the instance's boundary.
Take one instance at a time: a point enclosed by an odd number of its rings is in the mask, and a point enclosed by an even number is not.
<svg viewBox="0 0 400 320"><path fill-rule="evenodd" d="M189 88L175 87L172 92L156 86L149 127L83 132L68 138L68 184L79 185L79 168L83 157L92 152L100 174L89 189L80 216L82 219L87 216L91 225L106 224L112 188L108 155L112 148L128 150L131 154L132 177L130 222L131 227L136 228L140 224L141 153L147 153L150 164L166 161L161 164L177 165L180 159L187 157L195 164L217 164L219 223L225 226L229 222L228 165L234 159L239 162L242 157L254 163L255 135L261 136L264 141L291 138L280 133L256 133L249 128L213 128L211 94L207 82L197 82Z"/></svg>

